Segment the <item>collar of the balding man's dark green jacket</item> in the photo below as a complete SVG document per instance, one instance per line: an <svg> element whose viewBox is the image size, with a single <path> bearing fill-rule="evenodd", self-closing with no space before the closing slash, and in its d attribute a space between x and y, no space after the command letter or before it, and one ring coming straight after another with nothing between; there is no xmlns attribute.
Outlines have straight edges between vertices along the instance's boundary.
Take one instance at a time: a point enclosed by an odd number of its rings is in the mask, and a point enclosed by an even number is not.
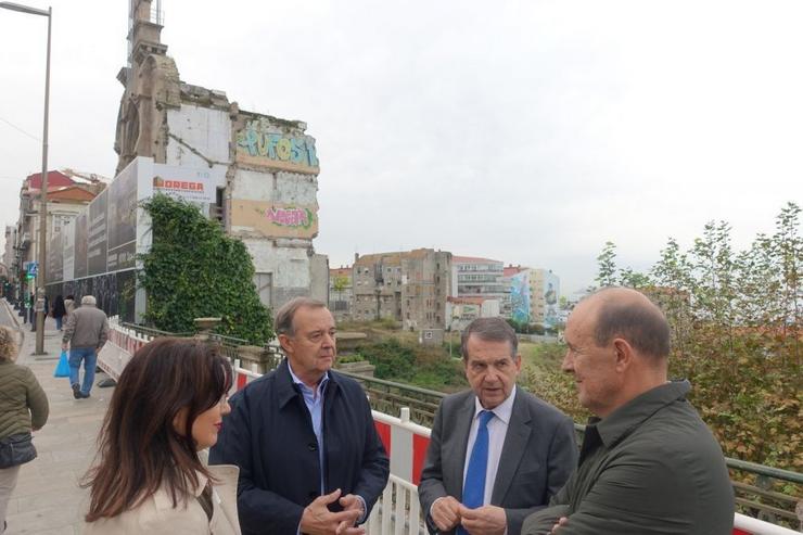
<svg viewBox="0 0 803 535"><path fill-rule="evenodd" d="M601 420L592 418L589 423L597 425L606 447L611 447L665 406L685 399L690 390L691 384L685 379L668 381L634 397Z"/></svg>

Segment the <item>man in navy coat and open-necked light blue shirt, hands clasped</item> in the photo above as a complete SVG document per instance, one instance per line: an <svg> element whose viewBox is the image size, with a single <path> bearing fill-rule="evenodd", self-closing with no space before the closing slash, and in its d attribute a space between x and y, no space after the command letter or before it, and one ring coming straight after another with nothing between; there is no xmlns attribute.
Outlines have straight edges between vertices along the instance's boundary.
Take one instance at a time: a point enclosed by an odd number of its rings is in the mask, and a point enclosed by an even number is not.
<svg viewBox="0 0 803 535"><path fill-rule="evenodd" d="M388 460L361 386L332 371L334 318L297 297L276 316L286 359L231 397L209 462L240 467L243 535L356 535Z"/></svg>

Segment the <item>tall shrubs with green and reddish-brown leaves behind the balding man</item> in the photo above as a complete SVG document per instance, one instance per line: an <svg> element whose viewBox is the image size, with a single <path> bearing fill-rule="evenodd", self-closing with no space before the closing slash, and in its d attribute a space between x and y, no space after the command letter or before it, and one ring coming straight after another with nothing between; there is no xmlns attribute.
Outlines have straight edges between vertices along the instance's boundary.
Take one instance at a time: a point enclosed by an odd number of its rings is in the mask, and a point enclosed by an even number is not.
<svg viewBox="0 0 803 535"><path fill-rule="evenodd" d="M795 471L803 469L800 213L787 204L775 233L741 252L730 226L711 221L688 251L670 239L646 279L625 270L620 278L666 314L671 375L692 382L690 399L725 455ZM598 258L602 285L616 272L614 247L608 242ZM559 379L538 380L563 392Z"/></svg>

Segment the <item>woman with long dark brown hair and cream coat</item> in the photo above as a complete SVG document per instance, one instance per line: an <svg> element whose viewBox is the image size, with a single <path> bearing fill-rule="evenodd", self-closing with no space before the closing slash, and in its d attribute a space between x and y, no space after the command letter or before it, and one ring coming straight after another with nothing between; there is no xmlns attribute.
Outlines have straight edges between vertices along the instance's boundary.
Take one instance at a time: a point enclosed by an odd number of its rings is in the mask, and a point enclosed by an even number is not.
<svg viewBox="0 0 803 535"><path fill-rule="evenodd" d="M131 357L85 476L85 534L240 534L239 469L199 456L231 411L231 384L228 359L199 340L156 339Z"/></svg>

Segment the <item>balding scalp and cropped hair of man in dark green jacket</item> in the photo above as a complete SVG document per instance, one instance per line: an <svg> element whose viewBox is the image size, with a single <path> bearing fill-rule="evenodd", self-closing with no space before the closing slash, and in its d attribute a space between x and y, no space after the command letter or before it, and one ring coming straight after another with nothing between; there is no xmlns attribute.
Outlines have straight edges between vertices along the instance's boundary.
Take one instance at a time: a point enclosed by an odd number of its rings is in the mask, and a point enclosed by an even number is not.
<svg viewBox="0 0 803 535"><path fill-rule="evenodd" d="M626 340L646 357L670 355L670 324L661 309L642 293L628 288L606 288L581 302L595 318L594 337L599 346L614 337Z"/></svg>

